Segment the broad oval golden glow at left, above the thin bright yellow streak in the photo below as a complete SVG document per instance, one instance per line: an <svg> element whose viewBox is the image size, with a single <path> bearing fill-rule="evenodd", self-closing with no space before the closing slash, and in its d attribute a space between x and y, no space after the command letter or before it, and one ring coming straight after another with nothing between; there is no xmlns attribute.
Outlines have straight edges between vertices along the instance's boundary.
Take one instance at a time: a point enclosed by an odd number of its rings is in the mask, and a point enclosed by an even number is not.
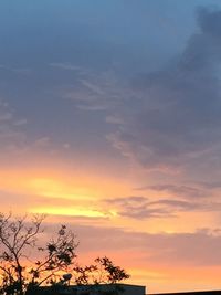
<svg viewBox="0 0 221 295"><path fill-rule="evenodd" d="M116 194L128 196L128 183L88 171L60 171L56 169L0 170L0 189L31 196L64 199L103 199Z"/></svg>

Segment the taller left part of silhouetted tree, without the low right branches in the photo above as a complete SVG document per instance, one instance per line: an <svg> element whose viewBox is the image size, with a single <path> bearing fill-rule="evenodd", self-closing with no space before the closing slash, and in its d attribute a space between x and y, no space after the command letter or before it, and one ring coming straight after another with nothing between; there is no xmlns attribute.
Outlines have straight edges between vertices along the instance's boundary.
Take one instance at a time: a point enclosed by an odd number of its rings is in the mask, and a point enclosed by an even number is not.
<svg viewBox="0 0 221 295"><path fill-rule="evenodd" d="M43 283L54 282L57 275L74 265L77 243L72 231L65 225L45 247L36 242L42 233L43 215L13 218L0 214L0 271L1 294L23 295ZM30 250L41 252L41 260L30 261ZM24 263L29 261L28 265Z"/></svg>

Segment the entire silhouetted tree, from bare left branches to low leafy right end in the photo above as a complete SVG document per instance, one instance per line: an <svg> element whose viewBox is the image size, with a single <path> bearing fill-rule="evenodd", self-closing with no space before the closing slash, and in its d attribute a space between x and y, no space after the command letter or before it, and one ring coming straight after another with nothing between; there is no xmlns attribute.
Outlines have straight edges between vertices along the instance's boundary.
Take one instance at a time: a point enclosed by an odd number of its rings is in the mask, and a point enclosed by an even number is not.
<svg viewBox="0 0 221 295"><path fill-rule="evenodd" d="M39 246L44 215L14 218L0 213L0 294L35 295L41 285L50 285L51 293L59 294L67 287L72 277L76 285L116 284L129 275L108 257L97 257L94 264L76 264L75 234L61 225L55 238ZM41 259L32 261L40 252ZM46 288L50 293L50 288ZM116 289L115 289L116 291ZM116 293L116 292L115 292ZM103 292L105 294L105 292Z"/></svg>

